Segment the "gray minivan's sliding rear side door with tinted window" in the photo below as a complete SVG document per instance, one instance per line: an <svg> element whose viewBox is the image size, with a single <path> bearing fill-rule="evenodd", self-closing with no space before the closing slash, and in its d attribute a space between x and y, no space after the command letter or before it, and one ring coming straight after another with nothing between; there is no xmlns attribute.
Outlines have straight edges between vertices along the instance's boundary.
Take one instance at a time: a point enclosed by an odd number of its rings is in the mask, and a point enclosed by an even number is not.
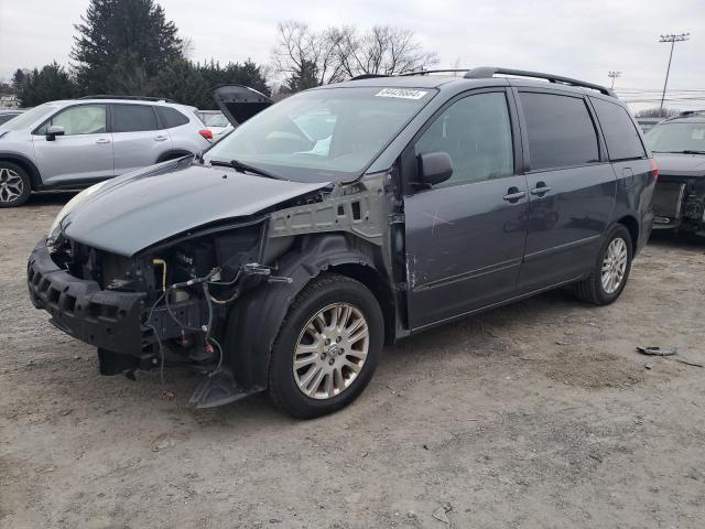
<svg viewBox="0 0 705 529"><path fill-rule="evenodd" d="M529 165L519 291L529 293L594 268L617 182L584 96L520 90L519 101Z"/></svg>

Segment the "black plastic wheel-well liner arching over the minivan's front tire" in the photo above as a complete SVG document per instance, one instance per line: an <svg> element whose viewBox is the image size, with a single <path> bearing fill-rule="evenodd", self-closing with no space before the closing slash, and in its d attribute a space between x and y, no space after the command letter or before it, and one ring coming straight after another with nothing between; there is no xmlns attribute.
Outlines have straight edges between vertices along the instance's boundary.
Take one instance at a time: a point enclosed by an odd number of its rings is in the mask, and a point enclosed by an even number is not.
<svg viewBox="0 0 705 529"><path fill-rule="evenodd" d="M373 268L370 258L350 248L343 234L302 238L276 270L291 283L264 284L230 309L225 355L238 386L248 392L267 388L272 345L294 298L329 267L350 263Z"/></svg>

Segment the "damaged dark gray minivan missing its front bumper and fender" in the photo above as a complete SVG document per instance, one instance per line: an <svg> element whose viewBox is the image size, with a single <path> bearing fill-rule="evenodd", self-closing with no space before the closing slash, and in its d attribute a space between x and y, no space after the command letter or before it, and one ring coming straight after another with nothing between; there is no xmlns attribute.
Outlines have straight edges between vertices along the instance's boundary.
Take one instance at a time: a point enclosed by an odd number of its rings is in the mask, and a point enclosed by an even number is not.
<svg viewBox="0 0 705 529"><path fill-rule="evenodd" d="M615 301L658 174L626 107L553 75L427 74L271 106L219 88L239 127L76 195L30 257L32 302L104 375L185 366L193 406L268 391L312 418L395 339L562 285Z"/></svg>

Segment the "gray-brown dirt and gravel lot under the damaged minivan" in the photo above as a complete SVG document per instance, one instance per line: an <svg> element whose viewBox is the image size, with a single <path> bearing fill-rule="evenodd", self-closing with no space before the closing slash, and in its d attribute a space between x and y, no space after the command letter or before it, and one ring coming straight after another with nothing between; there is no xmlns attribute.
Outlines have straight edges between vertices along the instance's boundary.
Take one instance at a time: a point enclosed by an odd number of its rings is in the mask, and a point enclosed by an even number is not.
<svg viewBox="0 0 705 529"><path fill-rule="evenodd" d="M555 292L400 343L296 422L100 377L24 287L66 199L0 210L1 527L703 527L705 369L634 346L705 363L705 245L652 241L609 307Z"/></svg>

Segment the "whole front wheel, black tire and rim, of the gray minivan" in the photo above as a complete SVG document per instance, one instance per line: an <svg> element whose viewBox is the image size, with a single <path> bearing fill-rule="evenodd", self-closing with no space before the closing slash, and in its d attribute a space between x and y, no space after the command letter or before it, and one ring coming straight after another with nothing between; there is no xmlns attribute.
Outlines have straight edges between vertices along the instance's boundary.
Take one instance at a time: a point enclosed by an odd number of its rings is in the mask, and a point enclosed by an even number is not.
<svg viewBox="0 0 705 529"><path fill-rule="evenodd" d="M272 347L269 395L299 419L337 411L372 378L384 342L382 312L359 281L327 273L296 296Z"/></svg>

